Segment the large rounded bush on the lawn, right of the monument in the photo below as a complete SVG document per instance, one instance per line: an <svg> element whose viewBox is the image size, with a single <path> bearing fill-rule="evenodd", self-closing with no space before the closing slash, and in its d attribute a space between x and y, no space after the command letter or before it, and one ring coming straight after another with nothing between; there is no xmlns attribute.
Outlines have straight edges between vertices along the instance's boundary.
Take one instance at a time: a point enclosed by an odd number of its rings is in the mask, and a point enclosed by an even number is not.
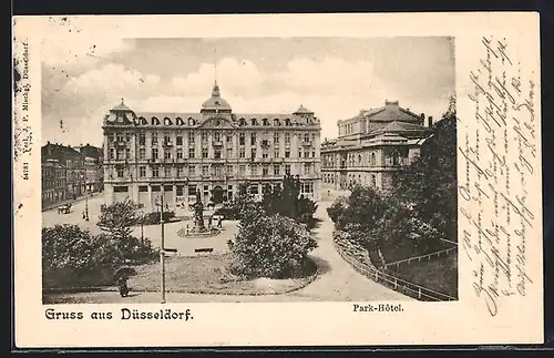
<svg viewBox="0 0 554 358"><path fill-rule="evenodd" d="M229 267L245 278L291 278L306 274L308 253L317 247L305 225L280 216L252 215L239 224Z"/></svg>

